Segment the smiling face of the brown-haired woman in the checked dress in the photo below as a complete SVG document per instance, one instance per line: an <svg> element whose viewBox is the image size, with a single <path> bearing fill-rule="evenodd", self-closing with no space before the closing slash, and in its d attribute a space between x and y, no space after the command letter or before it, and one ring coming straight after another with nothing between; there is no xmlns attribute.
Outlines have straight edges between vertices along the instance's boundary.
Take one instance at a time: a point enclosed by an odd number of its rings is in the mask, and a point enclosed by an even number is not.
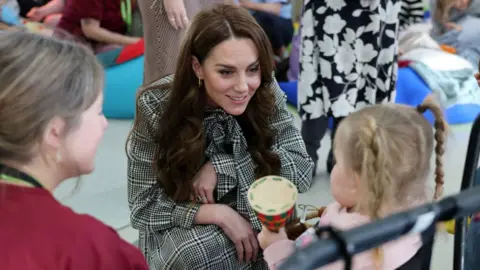
<svg viewBox="0 0 480 270"><path fill-rule="evenodd" d="M262 82L258 50L252 40L232 38L215 46L203 64L193 59L209 103L241 115Z"/></svg>

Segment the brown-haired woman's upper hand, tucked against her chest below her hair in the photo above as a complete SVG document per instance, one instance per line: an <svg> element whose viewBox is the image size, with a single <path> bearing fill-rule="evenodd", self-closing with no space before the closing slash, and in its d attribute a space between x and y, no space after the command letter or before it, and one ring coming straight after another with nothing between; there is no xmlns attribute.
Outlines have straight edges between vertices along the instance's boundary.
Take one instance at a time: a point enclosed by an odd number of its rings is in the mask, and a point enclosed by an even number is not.
<svg viewBox="0 0 480 270"><path fill-rule="evenodd" d="M193 194L190 195L192 201L201 203L215 203L213 190L217 185L217 173L209 161L195 175L193 181Z"/></svg>

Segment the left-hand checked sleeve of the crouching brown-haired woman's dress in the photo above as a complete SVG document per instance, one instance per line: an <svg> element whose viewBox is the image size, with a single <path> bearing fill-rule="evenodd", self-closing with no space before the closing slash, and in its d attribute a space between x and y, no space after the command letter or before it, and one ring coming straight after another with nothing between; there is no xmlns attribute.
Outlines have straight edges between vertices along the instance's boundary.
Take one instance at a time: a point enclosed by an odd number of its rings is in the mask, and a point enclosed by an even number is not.
<svg viewBox="0 0 480 270"><path fill-rule="evenodd" d="M132 129L128 156L128 202L132 226L142 231L172 227L191 228L200 204L175 203L157 182L153 169L159 147L154 142L157 120L163 112L163 90L143 93L137 104L137 125Z"/></svg>

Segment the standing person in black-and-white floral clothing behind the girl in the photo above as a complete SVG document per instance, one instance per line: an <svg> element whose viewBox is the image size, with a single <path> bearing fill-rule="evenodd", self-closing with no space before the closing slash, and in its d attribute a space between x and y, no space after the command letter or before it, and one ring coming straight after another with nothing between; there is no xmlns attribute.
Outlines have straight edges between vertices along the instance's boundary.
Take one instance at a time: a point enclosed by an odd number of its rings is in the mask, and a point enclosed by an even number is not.
<svg viewBox="0 0 480 270"><path fill-rule="evenodd" d="M422 0L305 0L298 110L315 164L333 118L336 127L365 106L393 101L399 29L423 20ZM334 164L330 149L327 171ZM316 171L316 170L315 170Z"/></svg>

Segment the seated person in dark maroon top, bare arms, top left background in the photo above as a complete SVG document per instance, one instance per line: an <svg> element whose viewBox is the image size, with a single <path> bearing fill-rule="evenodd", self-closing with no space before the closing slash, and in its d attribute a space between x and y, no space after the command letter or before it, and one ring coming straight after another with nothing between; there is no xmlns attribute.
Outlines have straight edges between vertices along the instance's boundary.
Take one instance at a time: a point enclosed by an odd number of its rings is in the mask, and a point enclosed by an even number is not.
<svg viewBox="0 0 480 270"><path fill-rule="evenodd" d="M127 25L122 17L121 2L122 0L53 0L32 10L30 16L39 20L48 12L61 12L58 20L52 21L52 26L58 23L58 28L89 44L95 52L102 52L112 45L130 45L140 40L126 35Z"/></svg>

